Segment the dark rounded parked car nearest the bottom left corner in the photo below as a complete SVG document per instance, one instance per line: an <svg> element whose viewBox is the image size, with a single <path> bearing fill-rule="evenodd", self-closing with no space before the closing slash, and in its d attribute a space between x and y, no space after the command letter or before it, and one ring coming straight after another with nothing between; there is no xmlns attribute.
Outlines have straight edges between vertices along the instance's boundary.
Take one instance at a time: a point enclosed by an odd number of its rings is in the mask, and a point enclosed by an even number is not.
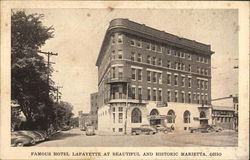
<svg viewBox="0 0 250 160"><path fill-rule="evenodd" d="M35 144L35 140L26 135L18 134L17 132L11 132L11 146L12 147L22 147L25 145Z"/></svg>

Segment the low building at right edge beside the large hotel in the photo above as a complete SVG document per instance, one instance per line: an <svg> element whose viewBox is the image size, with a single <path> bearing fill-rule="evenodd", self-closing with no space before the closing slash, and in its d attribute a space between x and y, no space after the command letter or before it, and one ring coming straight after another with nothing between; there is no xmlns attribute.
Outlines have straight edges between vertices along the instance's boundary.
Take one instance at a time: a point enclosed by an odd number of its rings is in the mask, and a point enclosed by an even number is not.
<svg viewBox="0 0 250 160"><path fill-rule="evenodd" d="M238 95L212 100L213 123L225 129L238 130Z"/></svg>

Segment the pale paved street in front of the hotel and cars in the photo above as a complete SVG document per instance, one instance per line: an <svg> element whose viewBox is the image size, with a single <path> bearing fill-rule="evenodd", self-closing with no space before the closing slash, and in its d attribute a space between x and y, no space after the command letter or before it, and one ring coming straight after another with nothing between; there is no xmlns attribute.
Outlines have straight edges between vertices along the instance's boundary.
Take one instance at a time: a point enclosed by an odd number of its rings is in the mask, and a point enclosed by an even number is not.
<svg viewBox="0 0 250 160"><path fill-rule="evenodd" d="M159 147L159 146L237 146L233 131L221 133L175 133L137 136L86 136L78 128L62 131L37 144L38 147Z"/></svg>

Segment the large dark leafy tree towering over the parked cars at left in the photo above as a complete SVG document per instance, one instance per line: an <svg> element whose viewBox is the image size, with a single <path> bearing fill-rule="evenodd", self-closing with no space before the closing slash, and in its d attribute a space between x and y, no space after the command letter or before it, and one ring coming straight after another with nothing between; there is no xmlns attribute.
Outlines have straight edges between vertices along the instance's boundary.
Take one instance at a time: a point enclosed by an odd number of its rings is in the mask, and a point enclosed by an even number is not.
<svg viewBox="0 0 250 160"><path fill-rule="evenodd" d="M42 24L42 14L26 15L24 11L11 14L11 99L19 103L30 129L46 129L53 121L53 100L48 90L54 91L53 81L47 83L48 68L38 55L45 41L53 38L53 27Z"/></svg>

